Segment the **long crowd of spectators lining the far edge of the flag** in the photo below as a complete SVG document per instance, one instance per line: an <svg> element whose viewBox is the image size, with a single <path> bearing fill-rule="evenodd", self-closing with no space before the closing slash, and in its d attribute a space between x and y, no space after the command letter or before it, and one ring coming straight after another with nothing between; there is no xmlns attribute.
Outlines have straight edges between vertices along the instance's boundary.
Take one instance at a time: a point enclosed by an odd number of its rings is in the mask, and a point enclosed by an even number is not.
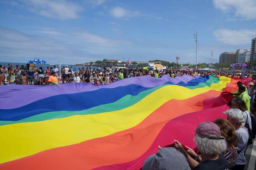
<svg viewBox="0 0 256 170"><path fill-rule="evenodd" d="M53 74L53 72L55 74ZM29 75L28 75L29 74ZM94 85L105 85L112 83L114 81L130 78L130 77L138 77L138 76L151 76L156 78L161 78L163 75L168 75L172 78L183 75L191 75L191 76L204 76L204 75L213 75L216 77L226 76L229 78L247 78L252 77L255 80L255 75L251 74L238 74L238 73L230 73L230 72L218 72L218 71L206 71L206 70L181 70L181 69L162 69L162 70L149 70L143 68L91 68L91 67L83 67L78 68L76 71L73 71L72 66L63 66L61 70L56 68L56 65L53 67L47 67L45 70L42 67L34 67L34 71L28 71L26 66L13 65L8 64L8 68L0 65L0 75L1 75L1 84L6 85L5 81L8 84L34 84L34 85L43 85L44 78L48 78L48 84L58 84L58 82L62 83L93 83ZM56 77L56 78L55 78Z"/></svg>

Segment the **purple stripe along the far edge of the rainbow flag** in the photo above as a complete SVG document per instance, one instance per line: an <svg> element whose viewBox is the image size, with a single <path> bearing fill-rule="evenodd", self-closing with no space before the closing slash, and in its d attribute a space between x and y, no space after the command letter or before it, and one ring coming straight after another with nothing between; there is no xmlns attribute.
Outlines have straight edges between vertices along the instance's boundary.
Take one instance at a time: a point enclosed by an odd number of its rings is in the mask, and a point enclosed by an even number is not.
<svg viewBox="0 0 256 170"><path fill-rule="evenodd" d="M132 77L123 79L104 86L94 86L92 83L65 83L60 84L59 87L55 85L49 86L35 86L35 85L6 85L0 86L0 109L13 109L25 106L29 103L48 98L60 94L72 94L86 91L98 90L101 88L115 88L118 86L127 86L130 84L137 84L142 87L157 87L172 82L178 84L179 82L187 83L188 81L198 78L183 75L182 77L171 78L164 75L162 78L155 78L150 76ZM157 81L156 81L157 80ZM53 101L54 102L54 101Z"/></svg>

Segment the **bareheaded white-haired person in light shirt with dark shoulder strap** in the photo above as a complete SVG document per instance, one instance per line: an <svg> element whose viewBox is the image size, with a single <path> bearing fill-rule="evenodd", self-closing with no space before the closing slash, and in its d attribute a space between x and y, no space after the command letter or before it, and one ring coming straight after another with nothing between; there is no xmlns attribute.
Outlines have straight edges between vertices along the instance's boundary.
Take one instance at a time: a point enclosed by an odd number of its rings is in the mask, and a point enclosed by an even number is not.
<svg viewBox="0 0 256 170"><path fill-rule="evenodd" d="M249 132L247 128L242 125L242 123L245 122L243 112L239 109L230 109L224 112L224 114L228 115L227 120L232 125L234 125L238 138L238 145L236 147L238 156L236 160L236 165L232 168L232 170L244 170L246 164L245 152L247 149Z"/></svg>

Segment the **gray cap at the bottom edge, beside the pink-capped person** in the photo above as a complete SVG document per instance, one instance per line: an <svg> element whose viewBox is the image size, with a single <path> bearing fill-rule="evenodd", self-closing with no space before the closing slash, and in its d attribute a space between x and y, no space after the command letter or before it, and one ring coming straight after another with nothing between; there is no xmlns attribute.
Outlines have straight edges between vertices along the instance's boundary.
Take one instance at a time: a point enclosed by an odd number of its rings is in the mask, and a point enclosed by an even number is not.
<svg viewBox="0 0 256 170"><path fill-rule="evenodd" d="M142 170L191 170L185 156L173 147L159 149L143 163Z"/></svg>

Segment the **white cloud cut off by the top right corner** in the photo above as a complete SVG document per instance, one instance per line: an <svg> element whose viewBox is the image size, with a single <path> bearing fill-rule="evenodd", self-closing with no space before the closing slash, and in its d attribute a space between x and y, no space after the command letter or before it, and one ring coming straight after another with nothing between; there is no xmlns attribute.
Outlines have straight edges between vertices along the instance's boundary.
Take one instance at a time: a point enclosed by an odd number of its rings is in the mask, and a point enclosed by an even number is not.
<svg viewBox="0 0 256 170"><path fill-rule="evenodd" d="M215 8L223 12L235 12L235 16L245 19L256 19L255 0L213 0Z"/></svg>

